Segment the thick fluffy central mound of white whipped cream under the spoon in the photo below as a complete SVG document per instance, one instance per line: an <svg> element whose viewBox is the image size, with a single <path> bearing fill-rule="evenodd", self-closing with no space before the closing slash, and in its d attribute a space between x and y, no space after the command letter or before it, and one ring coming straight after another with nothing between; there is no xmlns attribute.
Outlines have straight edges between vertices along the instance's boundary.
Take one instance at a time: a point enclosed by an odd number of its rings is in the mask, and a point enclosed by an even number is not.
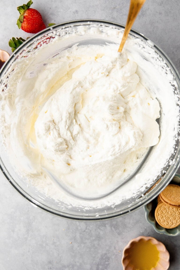
<svg viewBox="0 0 180 270"><path fill-rule="evenodd" d="M139 82L137 64L114 45L75 45L60 59L57 90L34 125L35 149L43 158L33 168L47 168L78 194L101 194L104 185L108 192L110 183L131 173L144 148L158 143L159 103Z"/></svg>

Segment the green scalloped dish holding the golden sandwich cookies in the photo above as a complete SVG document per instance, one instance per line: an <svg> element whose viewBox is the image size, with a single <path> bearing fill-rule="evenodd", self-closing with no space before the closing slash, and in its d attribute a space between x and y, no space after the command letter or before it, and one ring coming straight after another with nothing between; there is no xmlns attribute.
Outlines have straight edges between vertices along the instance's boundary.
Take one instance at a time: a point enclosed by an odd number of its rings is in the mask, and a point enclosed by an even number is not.
<svg viewBox="0 0 180 270"><path fill-rule="evenodd" d="M175 174L174 178L171 181L171 184L176 184L180 186L180 174ZM154 230L159 234L166 234L169 236L180 235L180 225L174 229L165 229L161 227L155 220L154 212L157 206L157 198L144 206L145 217L148 223L152 225Z"/></svg>

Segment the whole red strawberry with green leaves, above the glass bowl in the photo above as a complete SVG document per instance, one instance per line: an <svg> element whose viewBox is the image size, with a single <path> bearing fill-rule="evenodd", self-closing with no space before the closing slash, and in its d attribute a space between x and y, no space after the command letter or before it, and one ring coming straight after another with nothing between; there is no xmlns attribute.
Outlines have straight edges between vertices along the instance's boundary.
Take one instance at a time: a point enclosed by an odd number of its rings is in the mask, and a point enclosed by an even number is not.
<svg viewBox="0 0 180 270"><path fill-rule="evenodd" d="M20 13L17 25L19 29L28 33L38 33L39 31L46 28L42 16L36 9L30 8L33 2L30 0L26 5L18 6L18 11Z"/></svg>

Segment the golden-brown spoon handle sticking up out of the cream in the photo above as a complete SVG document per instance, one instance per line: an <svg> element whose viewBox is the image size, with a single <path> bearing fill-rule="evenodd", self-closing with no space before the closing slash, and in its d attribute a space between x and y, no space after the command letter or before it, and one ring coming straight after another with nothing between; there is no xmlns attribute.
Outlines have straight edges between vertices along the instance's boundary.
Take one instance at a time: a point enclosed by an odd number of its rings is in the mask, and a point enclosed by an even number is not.
<svg viewBox="0 0 180 270"><path fill-rule="evenodd" d="M123 35L123 38L121 40L121 44L119 46L118 52L122 52L122 49L124 47L124 43L125 43L127 36L128 36L128 33L131 30L131 27L132 27L138 13L140 12L142 6L144 5L145 1L146 0L131 0L130 7L129 7L129 14L128 14L126 26L124 29L124 35Z"/></svg>

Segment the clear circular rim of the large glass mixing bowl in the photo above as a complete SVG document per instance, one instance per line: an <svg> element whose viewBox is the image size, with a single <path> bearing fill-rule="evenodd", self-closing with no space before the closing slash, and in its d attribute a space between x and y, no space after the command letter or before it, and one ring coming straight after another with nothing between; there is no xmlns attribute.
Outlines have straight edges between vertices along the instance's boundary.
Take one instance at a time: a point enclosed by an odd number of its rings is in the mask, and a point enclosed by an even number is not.
<svg viewBox="0 0 180 270"><path fill-rule="evenodd" d="M12 53L12 55L9 57L9 59L5 62L5 64L2 66L1 70L0 70L0 78L1 78L1 74L4 73L4 71L6 70L6 68L8 68L8 66L11 64L12 59L14 58L14 56L17 54L17 52L21 51L23 49L23 47L25 47L28 43L30 43L31 41L33 41L33 39L37 38L38 36L41 36L42 34L45 34L46 32L49 31L49 29L56 29L59 28L59 26L65 26L65 25L72 25L72 24L77 24L80 23L80 25L83 25L83 23L105 23L105 24L109 24L111 26L117 26L120 28L125 28L124 25L121 25L119 23L115 23L115 22L111 22L111 21L105 21L105 20L96 20L96 19L81 19L81 20L73 20L73 21L67 21L67 22L63 22L63 23L59 23L56 25L53 25L51 27L48 27L40 32L38 32L37 34L33 35L32 37L30 37L28 40L26 40L22 45L20 45L14 53ZM148 38L146 38L143 34L139 33L138 31L135 31L133 29L131 29L130 33L135 33L136 35L140 36L141 38L143 38L144 40L150 40ZM151 40L150 40L151 41ZM180 75L177 71L177 69L175 68L174 64L171 62L171 60L168 58L168 56L157 46L154 44L154 48L157 49L159 55L162 55L168 65L171 67L172 71L174 72L175 75L175 79L176 82L178 83L178 87L180 89ZM178 157L179 156L179 157ZM132 211L137 210L138 208L144 206L145 204L148 204L150 201L152 201L155 197L158 196L158 194L168 185L168 183L172 180L172 178L174 177L176 171L178 170L178 165L180 162L180 147L178 148L177 152L176 152L176 161L173 164L173 166L170 167L169 171L168 171L168 175L165 177L163 177L162 181L160 183L158 183L158 187L155 188L154 192L150 193L150 196L144 196L141 198L140 201L138 201L137 203L133 204L132 206L128 207L126 210L123 211L119 211L119 212L115 212L115 213L110 213L110 214L106 214L106 215L101 215L99 217L95 217L95 216L83 216L80 217L79 215L72 215L72 214L64 214L64 213L60 213L59 211L53 210L50 207L47 207L46 205L36 201L33 197L31 197L29 194L27 194L18 184L16 184L16 182L13 180L12 177L8 176L8 172L6 173L6 168L2 162L2 160L0 159L0 170L1 172L4 174L5 178L9 181L9 183L11 183L11 185L16 189L16 191L18 191L18 193L20 193L26 200L28 200L30 203L32 203L35 207L39 207L42 210L45 210L46 212L49 212L51 214L55 214L59 217L63 217L63 218L67 218L70 220L77 220L77 221L100 221L100 220L108 220L108 219L112 219L112 218L116 218L116 217L120 217L123 216L125 214L128 214ZM164 179L165 178L165 179ZM163 181L164 180L164 181ZM163 183L163 185L162 185Z"/></svg>

